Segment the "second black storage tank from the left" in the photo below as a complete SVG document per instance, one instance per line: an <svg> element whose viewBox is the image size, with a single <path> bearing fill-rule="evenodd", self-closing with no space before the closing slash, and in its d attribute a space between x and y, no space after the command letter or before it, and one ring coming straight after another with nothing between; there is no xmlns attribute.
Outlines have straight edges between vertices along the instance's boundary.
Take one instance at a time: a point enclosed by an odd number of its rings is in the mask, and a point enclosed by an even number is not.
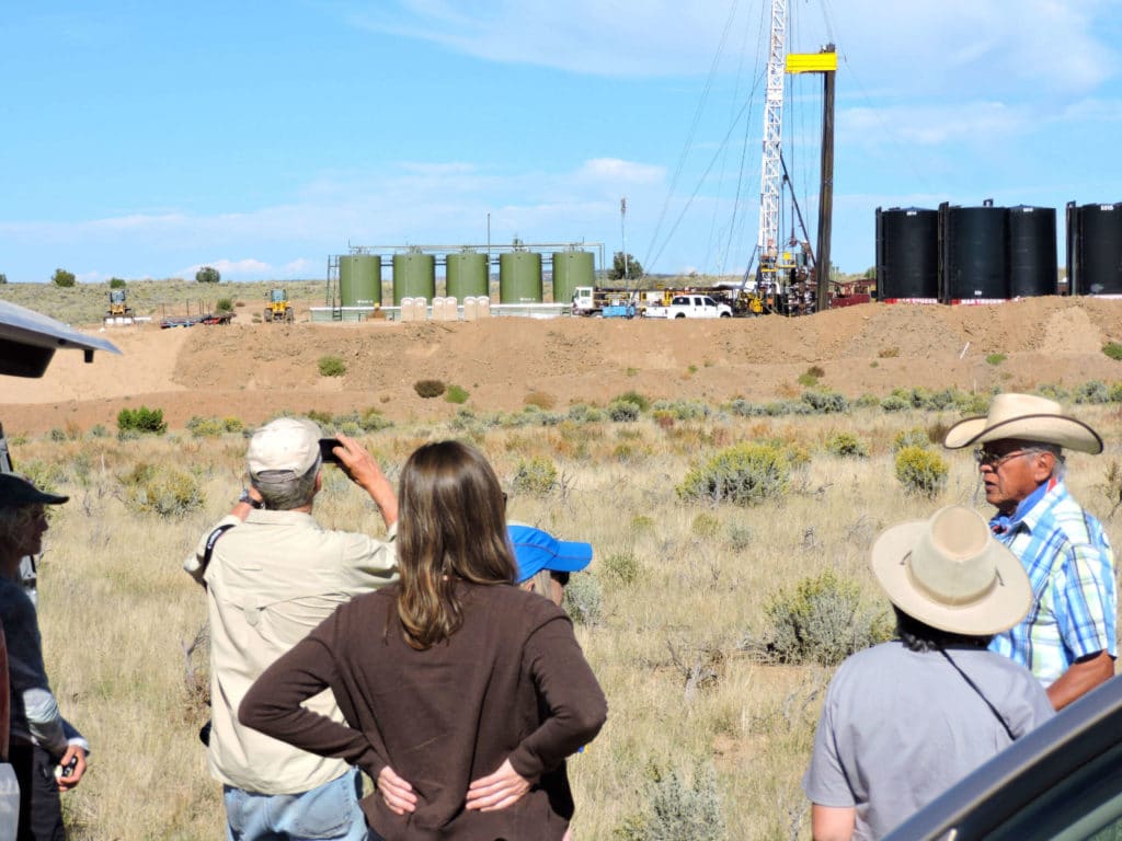
<svg viewBox="0 0 1122 841"><path fill-rule="evenodd" d="M1005 259L1009 212L988 202L981 207L939 207L942 228L942 286L946 304L996 302L1009 297Z"/></svg>

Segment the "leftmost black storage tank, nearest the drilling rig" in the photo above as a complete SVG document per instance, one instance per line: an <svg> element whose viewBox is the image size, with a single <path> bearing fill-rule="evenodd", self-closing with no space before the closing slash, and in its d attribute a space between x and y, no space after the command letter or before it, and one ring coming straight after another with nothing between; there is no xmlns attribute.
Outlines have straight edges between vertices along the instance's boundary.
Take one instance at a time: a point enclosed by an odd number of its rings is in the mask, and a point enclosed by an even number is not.
<svg viewBox="0 0 1122 841"><path fill-rule="evenodd" d="M938 211L876 209L876 297L885 303L938 302Z"/></svg>

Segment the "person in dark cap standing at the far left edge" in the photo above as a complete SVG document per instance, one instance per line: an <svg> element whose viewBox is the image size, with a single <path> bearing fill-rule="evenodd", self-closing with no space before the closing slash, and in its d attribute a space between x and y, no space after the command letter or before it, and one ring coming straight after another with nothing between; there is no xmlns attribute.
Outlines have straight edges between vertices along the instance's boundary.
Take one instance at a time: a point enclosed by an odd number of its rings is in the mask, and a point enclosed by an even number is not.
<svg viewBox="0 0 1122 841"><path fill-rule="evenodd" d="M79 784L90 751L58 712L43 665L38 617L19 581L20 560L43 551L45 506L67 499L21 477L0 474L0 619L10 669L9 752L20 789L19 841L66 838L59 792Z"/></svg>

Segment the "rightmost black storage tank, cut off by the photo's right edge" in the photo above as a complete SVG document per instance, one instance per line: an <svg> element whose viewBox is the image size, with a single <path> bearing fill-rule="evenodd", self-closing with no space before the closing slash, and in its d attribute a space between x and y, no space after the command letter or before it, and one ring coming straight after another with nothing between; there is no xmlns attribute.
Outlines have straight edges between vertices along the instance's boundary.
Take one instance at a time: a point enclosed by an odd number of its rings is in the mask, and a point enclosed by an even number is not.
<svg viewBox="0 0 1122 841"><path fill-rule="evenodd" d="M1122 295L1122 203L1068 205L1068 274L1075 295Z"/></svg>

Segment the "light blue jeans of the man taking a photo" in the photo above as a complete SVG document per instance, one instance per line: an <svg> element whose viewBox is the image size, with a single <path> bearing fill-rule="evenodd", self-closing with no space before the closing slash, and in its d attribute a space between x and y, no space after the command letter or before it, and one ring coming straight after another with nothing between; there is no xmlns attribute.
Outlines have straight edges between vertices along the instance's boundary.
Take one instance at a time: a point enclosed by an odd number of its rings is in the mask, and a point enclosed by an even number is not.
<svg viewBox="0 0 1122 841"><path fill-rule="evenodd" d="M222 787L227 841L367 841L357 769L301 794Z"/></svg>

